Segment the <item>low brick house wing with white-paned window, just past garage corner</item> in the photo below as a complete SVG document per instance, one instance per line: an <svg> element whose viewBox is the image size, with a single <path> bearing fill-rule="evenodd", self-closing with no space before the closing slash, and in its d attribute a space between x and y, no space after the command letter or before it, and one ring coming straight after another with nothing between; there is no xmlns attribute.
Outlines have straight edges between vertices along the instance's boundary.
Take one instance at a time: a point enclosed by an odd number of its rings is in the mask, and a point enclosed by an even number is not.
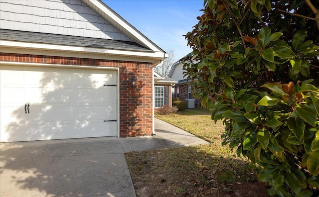
<svg viewBox="0 0 319 197"><path fill-rule="evenodd" d="M154 72L154 103L155 110L162 107L163 105L171 106L171 87L177 83L168 77L160 75Z"/></svg>

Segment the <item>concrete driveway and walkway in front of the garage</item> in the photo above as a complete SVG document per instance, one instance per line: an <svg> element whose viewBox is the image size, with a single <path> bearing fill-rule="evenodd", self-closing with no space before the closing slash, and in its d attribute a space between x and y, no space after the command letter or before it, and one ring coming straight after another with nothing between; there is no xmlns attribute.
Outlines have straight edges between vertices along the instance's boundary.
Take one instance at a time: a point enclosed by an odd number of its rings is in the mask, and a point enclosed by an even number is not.
<svg viewBox="0 0 319 197"><path fill-rule="evenodd" d="M156 136L0 144L2 197L135 197L125 152L207 144L159 119Z"/></svg>

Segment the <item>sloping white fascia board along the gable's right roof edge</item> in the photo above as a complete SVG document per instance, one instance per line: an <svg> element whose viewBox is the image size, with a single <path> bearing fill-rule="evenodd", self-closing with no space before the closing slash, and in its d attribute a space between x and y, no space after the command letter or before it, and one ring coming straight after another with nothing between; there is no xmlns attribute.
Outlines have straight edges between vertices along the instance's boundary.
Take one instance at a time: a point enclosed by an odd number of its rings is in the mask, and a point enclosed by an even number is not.
<svg viewBox="0 0 319 197"><path fill-rule="evenodd" d="M140 40L142 43L144 43L146 46L148 46L153 51L159 51L161 52L161 49L156 46L154 43L150 42L149 39L147 39L143 34L141 34L139 31L137 31L130 23L125 21L122 17L120 17L115 11L113 11L108 6L104 6L103 2L98 0L90 0L90 2L101 9L104 13L106 13L110 18L112 18L117 24L122 26L124 29L126 29L128 32L130 32L133 36L135 36L138 40ZM102 4L103 3L103 4ZM163 52L162 52L163 53ZM162 56L163 57L163 56Z"/></svg>

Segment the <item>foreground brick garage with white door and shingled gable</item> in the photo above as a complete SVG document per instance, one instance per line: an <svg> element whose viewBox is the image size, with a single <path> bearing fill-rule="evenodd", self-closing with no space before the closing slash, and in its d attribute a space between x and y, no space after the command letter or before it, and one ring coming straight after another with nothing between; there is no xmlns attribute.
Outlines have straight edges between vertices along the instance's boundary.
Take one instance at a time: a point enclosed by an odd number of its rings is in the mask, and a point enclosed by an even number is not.
<svg viewBox="0 0 319 197"><path fill-rule="evenodd" d="M154 133L167 54L101 0L1 0L0 46L1 142Z"/></svg>

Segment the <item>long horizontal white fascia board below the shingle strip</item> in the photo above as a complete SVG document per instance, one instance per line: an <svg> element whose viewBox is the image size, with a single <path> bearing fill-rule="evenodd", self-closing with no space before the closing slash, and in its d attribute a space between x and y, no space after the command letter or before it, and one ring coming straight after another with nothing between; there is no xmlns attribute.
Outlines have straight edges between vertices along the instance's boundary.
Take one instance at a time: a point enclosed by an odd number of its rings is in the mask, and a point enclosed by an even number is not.
<svg viewBox="0 0 319 197"><path fill-rule="evenodd" d="M27 43L27 42L17 42L17 41L8 41L8 40L0 40L0 46L13 47L13 48L15 47L15 48L53 50L53 51L97 53L97 54L108 54L108 55L124 55L124 56L134 56L134 57L149 57L154 59L161 59L163 57L163 52L125 51L125 50L102 49L102 48L93 48L93 47Z"/></svg>

